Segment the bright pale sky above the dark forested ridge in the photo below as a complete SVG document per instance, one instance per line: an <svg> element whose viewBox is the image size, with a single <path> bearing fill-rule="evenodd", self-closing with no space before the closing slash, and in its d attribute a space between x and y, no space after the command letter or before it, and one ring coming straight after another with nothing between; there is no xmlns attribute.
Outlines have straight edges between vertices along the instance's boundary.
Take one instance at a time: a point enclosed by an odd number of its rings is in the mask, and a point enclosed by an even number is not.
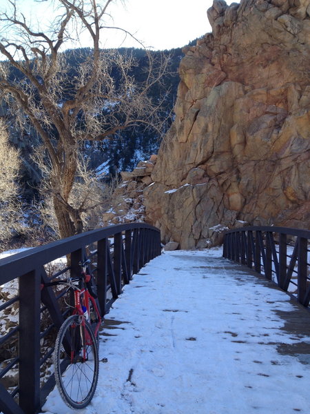
<svg viewBox="0 0 310 414"><path fill-rule="evenodd" d="M5 4L2 1L1 4ZM17 0L25 14L31 12L32 19L40 23L51 14L48 3L50 1L40 5L34 0ZM227 4L230 3L227 1ZM207 19L207 9L211 4L211 0L115 0L110 12L115 26L134 33L144 46L163 50L185 46L189 41L211 32ZM104 47L138 47L132 39L124 41L123 35L118 37L112 30L104 43ZM87 46L87 41L82 41L81 46Z"/></svg>

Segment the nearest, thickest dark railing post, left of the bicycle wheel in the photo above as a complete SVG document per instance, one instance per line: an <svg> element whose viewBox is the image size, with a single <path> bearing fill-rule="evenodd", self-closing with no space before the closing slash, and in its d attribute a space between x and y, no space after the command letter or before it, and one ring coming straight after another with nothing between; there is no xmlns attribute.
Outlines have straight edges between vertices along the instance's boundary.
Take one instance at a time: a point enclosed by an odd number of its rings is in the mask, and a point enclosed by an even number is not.
<svg viewBox="0 0 310 414"><path fill-rule="evenodd" d="M19 406L26 414L40 407L40 274L19 277Z"/></svg>

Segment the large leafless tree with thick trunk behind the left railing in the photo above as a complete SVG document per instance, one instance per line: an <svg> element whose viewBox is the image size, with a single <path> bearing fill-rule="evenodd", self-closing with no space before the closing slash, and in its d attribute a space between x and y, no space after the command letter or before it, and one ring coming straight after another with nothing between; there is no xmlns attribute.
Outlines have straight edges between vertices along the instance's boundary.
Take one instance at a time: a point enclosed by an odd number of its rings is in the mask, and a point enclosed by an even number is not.
<svg viewBox="0 0 310 414"><path fill-rule="evenodd" d="M0 41L6 59L0 65L0 91L21 123L30 122L41 137L61 237L83 230L81 209L70 201L81 143L102 141L138 124L160 128L161 103L154 103L148 92L163 78L168 59L155 61L148 54L144 81L137 82L132 55L101 49L103 33L112 28L106 22L114 1L54 0L57 14L44 32L19 12L15 0L6 0L8 9L0 14L1 32L6 33ZM63 50L77 44L81 32L89 35L91 48L72 79ZM114 81L113 70L121 81Z"/></svg>

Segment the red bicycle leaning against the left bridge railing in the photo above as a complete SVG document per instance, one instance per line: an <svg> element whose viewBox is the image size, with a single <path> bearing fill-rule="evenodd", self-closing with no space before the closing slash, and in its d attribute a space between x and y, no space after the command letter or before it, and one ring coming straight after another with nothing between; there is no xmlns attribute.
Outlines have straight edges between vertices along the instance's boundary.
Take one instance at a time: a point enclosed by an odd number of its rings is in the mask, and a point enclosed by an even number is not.
<svg viewBox="0 0 310 414"><path fill-rule="evenodd" d="M89 259L80 263L83 270L79 277L43 285L65 285L74 293L73 312L59 328L53 359L59 393L65 404L75 409L90 404L99 375L101 316L96 305L96 293L92 290L92 275L87 274L88 264Z"/></svg>

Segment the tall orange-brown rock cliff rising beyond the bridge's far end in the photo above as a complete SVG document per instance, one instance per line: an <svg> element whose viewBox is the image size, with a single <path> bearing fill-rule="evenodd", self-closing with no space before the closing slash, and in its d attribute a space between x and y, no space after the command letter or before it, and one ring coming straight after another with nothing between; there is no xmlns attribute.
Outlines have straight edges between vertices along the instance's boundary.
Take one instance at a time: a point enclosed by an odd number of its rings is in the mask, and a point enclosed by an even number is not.
<svg viewBox="0 0 310 414"><path fill-rule="evenodd" d="M185 48L176 119L144 190L146 219L181 248L219 226L309 227L309 0L215 0Z"/></svg>

